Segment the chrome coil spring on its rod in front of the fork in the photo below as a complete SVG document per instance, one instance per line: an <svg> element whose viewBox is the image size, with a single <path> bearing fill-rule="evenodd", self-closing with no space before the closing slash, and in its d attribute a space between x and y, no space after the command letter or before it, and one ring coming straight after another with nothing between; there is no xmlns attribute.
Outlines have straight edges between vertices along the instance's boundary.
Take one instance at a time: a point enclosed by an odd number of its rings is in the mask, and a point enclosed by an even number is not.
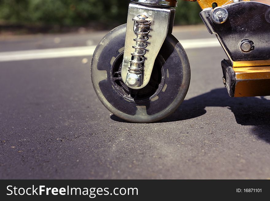
<svg viewBox="0 0 270 201"><path fill-rule="evenodd" d="M147 47L146 41L149 40L148 34L150 33L151 21L146 20L148 17L141 14L137 15L136 18L132 20L136 23L137 31L134 33L137 35L137 38L134 38L133 41L136 42L136 45L132 47L135 49L134 53L131 53L133 60L130 60L131 66L129 67L129 73L141 74L143 69L143 63L145 62L144 55L146 54L145 48Z"/></svg>

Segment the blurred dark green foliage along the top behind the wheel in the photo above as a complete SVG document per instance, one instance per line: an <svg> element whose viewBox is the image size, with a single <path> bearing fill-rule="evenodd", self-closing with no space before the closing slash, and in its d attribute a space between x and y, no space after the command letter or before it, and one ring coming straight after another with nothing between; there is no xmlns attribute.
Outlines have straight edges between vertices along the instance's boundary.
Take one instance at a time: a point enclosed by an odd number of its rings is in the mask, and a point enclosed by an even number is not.
<svg viewBox="0 0 270 201"><path fill-rule="evenodd" d="M126 22L129 0L0 0L0 22L23 26L112 28ZM200 23L196 2L178 1L176 25Z"/></svg>

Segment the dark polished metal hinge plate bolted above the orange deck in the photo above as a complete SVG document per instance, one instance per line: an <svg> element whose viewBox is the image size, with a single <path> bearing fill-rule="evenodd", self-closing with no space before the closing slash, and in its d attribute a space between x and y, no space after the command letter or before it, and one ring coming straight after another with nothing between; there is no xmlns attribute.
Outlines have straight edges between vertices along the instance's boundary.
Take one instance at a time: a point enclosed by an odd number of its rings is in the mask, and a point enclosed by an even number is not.
<svg viewBox="0 0 270 201"><path fill-rule="evenodd" d="M222 6L228 19L216 24L211 18L212 8L204 9L200 16L211 34L216 34L233 67L270 65L270 24L265 13L270 6L258 2L238 2ZM247 39L252 51L243 51L241 41Z"/></svg>

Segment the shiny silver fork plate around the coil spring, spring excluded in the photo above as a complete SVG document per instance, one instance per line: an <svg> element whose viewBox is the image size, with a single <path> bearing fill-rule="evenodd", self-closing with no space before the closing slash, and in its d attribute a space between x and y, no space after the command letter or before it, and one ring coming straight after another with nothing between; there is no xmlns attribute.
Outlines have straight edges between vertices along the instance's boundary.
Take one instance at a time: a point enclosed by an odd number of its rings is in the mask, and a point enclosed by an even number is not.
<svg viewBox="0 0 270 201"><path fill-rule="evenodd" d="M160 51L160 48L168 34L169 24L172 22L172 16L174 17L175 9L171 7L153 7L151 5L140 5L137 3L129 4L127 28L125 36L125 50L124 58L122 63L122 80L131 89L141 89L145 87L151 77L152 69L154 66L155 59ZM132 20L138 15L147 16L148 20L151 21L149 39L147 41L147 47L145 48L146 54L144 55L143 72L141 74L141 80L138 86L130 86L126 82L127 74L129 73L129 67L131 65L130 60L132 59L132 53L134 53L133 46L136 38L135 24Z"/></svg>

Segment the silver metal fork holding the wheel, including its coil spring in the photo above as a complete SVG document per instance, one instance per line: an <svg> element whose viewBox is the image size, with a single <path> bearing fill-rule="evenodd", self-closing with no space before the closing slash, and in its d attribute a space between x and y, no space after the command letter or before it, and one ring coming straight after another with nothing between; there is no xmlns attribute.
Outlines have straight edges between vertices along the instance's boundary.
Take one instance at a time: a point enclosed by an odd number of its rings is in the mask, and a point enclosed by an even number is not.
<svg viewBox="0 0 270 201"><path fill-rule="evenodd" d="M175 9L162 5L165 1L160 0L132 1L138 3L129 4L121 76L129 88L141 89L148 84L160 48L167 34L172 32Z"/></svg>

